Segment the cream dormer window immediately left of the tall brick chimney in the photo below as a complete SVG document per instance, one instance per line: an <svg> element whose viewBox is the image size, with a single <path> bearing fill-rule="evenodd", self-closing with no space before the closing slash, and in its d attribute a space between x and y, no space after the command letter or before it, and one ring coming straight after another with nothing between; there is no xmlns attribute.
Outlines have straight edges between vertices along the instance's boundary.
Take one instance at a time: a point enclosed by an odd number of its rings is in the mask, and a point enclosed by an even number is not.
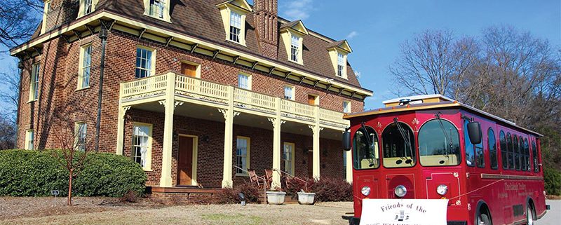
<svg viewBox="0 0 561 225"><path fill-rule="evenodd" d="M252 11L245 0L229 0L216 5L220 9L226 41L245 46L245 14Z"/></svg>

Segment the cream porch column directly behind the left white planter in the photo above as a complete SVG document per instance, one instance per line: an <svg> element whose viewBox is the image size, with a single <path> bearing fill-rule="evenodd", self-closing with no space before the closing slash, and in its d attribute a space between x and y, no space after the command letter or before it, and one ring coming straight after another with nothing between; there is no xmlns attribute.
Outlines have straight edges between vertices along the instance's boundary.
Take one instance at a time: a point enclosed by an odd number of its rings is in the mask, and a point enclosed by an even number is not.
<svg viewBox="0 0 561 225"><path fill-rule="evenodd" d="M285 123L285 121L280 119L280 98L276 98L276 117L269 118L269 121L273 123L273 183L271 184L271 189L280 188L280 156L282 152L280 151L280 126Z"/></svg>

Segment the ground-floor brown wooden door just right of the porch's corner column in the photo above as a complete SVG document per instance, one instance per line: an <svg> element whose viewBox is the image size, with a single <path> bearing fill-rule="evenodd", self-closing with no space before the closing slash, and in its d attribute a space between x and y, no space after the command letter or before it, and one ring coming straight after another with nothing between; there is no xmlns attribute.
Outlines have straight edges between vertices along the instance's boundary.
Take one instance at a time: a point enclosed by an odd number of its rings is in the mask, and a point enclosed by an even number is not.
<svg viewBox="0 0 561 225"><path fill-rule="evenodd" d="M177 185L191 185L193 177L193 137L180 137L177 153Z"/></svg>

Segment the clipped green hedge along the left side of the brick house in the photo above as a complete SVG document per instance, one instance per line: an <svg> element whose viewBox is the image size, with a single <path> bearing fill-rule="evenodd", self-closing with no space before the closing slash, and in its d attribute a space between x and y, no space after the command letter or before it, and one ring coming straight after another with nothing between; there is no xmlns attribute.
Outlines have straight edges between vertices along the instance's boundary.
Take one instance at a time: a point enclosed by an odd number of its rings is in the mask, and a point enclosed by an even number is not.
<svg viewBox="0 0 561 225"><path fill-rule="evenodd" d="M68 194L68 172L53 154L60 151L0 151L0 196ZM144 170L125 156L90 153L73 180L74 196L121 197L128 191L144 193Z"/></svg>

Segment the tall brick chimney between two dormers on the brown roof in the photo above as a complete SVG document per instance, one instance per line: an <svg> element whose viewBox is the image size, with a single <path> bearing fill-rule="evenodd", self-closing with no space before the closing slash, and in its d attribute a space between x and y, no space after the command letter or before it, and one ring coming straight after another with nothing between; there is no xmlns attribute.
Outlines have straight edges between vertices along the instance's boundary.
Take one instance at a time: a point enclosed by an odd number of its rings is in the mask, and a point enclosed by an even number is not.
<svg viewBox="0 0 561 225"><path fill-rule="evenodd" d="M261 53L276 59L278 55L278 0L254 0L253 18Z"/></svg>

